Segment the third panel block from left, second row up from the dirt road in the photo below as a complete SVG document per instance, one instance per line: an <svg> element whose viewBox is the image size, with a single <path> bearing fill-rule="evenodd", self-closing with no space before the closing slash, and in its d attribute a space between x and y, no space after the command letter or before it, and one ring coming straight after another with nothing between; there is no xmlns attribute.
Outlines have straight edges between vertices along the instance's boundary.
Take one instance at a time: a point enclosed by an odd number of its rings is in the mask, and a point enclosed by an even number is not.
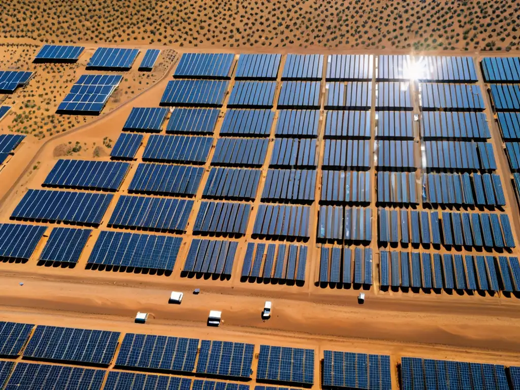
<svg viewBox="0 0 520 390"><path fill-rule="evenodd" d="M194 234L225 234L240 237L248 227L251 205L232 202L201 202Z"/></svg>

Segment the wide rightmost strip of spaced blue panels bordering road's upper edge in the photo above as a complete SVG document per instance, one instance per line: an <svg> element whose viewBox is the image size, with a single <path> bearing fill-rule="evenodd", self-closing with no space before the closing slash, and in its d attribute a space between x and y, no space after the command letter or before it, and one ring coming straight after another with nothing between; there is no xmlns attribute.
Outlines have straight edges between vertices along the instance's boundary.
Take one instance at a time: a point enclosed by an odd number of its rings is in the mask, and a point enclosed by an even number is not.
<svg viewBox="0 0 520 390"><path fill-rule="evenodd" d="M382 251L379 266L383 288L520 291L517 257Z"/></svg>

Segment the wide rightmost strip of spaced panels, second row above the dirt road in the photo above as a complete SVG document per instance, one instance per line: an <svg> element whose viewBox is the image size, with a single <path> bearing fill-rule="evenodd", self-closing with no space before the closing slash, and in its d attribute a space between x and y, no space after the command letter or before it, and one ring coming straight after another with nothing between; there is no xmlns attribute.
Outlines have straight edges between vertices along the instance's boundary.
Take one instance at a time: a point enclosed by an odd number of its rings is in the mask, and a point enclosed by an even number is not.
<svg viewBox="0 0 520 390"><path fill-rule="evenodd" d="M515 247L507 214L443 211L440 220L437 211L379 209L378 214L381 244Z"/></svg>

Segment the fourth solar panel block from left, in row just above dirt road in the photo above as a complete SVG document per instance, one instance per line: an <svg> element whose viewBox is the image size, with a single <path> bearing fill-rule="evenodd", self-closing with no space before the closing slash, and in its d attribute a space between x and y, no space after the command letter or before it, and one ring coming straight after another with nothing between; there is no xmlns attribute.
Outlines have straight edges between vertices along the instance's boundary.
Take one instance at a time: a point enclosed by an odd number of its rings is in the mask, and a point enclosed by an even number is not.
<svg viewBox="0 0 520 390"><path fill-rule="evenodd" d="M229 278L237 247L236 241L193 239L181 276L203 274L213 275L214 279Z"/></svg>

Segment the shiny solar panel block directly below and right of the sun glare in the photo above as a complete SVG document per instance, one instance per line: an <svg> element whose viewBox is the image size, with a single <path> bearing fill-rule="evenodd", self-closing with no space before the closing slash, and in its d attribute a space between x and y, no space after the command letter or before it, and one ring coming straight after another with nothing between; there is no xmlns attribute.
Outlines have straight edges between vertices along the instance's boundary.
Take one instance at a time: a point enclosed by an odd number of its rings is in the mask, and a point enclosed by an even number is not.
<svg viewBox="0 0 520 390"><path fill-rule="evenodd" d="M478 85L419 83L421 109L425 111L483 111Z"/></svg>

